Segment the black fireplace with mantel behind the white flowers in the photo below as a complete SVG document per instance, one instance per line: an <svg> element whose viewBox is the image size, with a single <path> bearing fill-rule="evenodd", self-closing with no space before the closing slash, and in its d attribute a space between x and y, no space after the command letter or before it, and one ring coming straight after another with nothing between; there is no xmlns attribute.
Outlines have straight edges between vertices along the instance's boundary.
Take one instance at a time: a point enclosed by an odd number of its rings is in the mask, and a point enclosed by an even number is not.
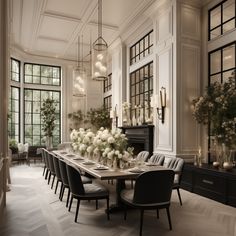
<svg viewBox="0 0 236 236"><path fill-rule="evenodd" d="M134 155L141 151L153 153L153 125L124 126L120 127L128 138L128 144L134 147Z"/></svg>

